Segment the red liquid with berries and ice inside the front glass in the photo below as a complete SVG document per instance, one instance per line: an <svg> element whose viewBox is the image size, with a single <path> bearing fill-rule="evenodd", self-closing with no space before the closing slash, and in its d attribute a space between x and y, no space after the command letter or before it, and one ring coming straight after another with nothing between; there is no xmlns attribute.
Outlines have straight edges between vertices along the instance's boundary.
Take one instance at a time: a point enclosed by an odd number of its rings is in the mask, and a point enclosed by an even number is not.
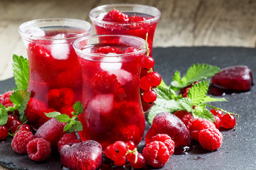
<svg viewBox="0 0 256 170"><path fill-rule="evenodd" d="M114 47L121 50L127 48L120 45ZM145 127L139 97L142 56L130 55L125 60L123 57L97 57L93 61L79 57L82 104L85 108L84 113L79 115L83 126L80 132L82 141L96 140L104 149L117 140L132 140L136 145L142 140Z"/></svg>

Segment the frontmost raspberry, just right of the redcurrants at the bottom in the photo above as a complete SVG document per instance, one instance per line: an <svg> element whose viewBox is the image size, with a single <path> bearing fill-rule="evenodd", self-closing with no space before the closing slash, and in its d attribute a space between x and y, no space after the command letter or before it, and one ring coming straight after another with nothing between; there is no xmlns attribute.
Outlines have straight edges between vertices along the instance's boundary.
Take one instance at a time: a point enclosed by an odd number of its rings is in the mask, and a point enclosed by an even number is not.
<svg viewBox="0 0 256 170"><path fill-rule="evenodd" d="M159 168L168 162L170 154L163 142L154 141L144 147L143 156L146 159L146 164Z"/></svg>

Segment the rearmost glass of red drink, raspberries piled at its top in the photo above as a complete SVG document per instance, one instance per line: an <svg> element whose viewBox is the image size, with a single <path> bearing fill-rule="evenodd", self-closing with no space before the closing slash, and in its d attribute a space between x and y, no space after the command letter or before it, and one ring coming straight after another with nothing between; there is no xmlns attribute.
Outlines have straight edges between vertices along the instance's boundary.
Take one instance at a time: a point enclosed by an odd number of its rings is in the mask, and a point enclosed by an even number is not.
<svg viewBox="0 0 256 170"><path fill-rule="evenodd" d="M161 16L159 9L140 4L107 4L93 8L89 16L97 34L134 35L145 40L148 33L149 56L152 57L154 32ZM142 69L141 77L147 71ZM142 98L145 113L152 105Z"/></svg>

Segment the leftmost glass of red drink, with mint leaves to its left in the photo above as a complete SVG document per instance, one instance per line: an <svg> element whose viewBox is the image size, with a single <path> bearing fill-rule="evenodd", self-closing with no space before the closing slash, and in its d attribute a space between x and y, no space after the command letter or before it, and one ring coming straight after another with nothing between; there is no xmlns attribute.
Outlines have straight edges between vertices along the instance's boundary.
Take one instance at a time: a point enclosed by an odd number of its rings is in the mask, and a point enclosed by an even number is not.
<svg viewBox="0 0 256 170"><path fill-rule="evenodd" d="M90 34L90 23L67 18L39 19L23 23L19 32L28 52L29 81L26 116L33 128L58 111L71 115L80 101L81 69L73 42Z"/></svg>

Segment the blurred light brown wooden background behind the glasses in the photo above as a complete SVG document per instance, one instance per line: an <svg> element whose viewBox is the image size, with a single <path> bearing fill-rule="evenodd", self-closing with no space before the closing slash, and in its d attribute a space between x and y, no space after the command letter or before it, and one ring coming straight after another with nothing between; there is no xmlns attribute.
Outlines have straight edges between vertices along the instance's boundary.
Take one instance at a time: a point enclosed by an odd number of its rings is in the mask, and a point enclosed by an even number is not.
<svg viewBox="0 0 256 170"><path fill-rule="evenodd" d="M26 57L21 23L55 17L90 21L90 9L113 3L159 8L154 47L256 45L254 0L0 0L0 80L12 77L13 54Z"/></svg>

